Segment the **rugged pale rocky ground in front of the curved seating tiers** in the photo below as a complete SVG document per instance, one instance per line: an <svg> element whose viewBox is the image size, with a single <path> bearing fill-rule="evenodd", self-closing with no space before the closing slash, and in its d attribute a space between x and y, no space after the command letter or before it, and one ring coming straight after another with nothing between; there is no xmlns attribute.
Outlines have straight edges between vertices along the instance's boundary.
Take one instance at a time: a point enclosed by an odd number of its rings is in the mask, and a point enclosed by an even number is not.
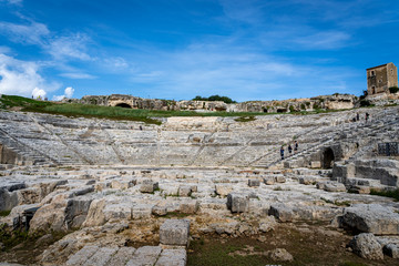
<svg viewBox="0 0 399 266"><path fill-rule="evenodd" d="M113 248L112 254L122 247L154 247L166 221L184 219L190 222L192 242L188 265L204 265L206 248L233 242L238 244L223 256L238 256L242 265L269 263L274 256L273 255L276 248L293 257L284 265L319 265L323 258L335 258L326 265L399 263L391 258L399 244L392 236L399 233L399 204L347 193L341 183L330 181L328 170L22 166L1 174L3 201L18 202L1 223L12 227L19 218L23 222L25 209L40 207L29 231L38 237L4 246L4 262L80 265L68 262L85 246ZM370 233L366 252L351 243L359 233ZM207 265L228 264L216 259Z"/></svg>

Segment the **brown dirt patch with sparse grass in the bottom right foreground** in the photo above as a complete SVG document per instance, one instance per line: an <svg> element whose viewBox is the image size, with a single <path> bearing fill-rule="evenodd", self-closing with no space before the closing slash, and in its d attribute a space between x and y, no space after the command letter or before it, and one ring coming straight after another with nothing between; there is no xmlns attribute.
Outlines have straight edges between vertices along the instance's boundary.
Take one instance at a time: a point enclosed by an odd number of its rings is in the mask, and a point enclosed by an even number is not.
<svg viewBox="0 0 399 266"><path fill-rule="evenodd" d="M305 223L282 224L273 232L252 237L209 235L191 243L187 265L399 265L399 259L388 256L383 260L358 257L346 247L351 238L352 235L344 231ZM285 248L294 260L272 260L267 252L275 248Z"/></svg>

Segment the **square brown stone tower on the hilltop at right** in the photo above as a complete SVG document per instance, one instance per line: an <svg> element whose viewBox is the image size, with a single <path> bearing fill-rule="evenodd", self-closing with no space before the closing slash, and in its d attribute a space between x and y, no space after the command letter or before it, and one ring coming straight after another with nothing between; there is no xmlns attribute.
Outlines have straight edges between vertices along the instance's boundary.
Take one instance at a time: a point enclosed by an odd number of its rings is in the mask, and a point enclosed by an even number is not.
<svg viewBox="0 0 399 266"><path fill-rule="evenodd" d="M389 92L391 86L398 86L398 69L393 63L367 69L367 92L369 95Z"/></svg>

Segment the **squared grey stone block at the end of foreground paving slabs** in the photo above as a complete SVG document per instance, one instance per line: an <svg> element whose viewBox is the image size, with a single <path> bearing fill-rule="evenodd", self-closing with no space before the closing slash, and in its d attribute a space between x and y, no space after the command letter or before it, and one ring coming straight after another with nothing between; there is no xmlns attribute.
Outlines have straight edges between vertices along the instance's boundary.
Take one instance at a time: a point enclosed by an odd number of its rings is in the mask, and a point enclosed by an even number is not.
<svg viewBox="0 0 399 266"><path fill-rule="evenodd" d="M190 221L166 219L160 227L160 242L164 245L187 246Z"/></svg>

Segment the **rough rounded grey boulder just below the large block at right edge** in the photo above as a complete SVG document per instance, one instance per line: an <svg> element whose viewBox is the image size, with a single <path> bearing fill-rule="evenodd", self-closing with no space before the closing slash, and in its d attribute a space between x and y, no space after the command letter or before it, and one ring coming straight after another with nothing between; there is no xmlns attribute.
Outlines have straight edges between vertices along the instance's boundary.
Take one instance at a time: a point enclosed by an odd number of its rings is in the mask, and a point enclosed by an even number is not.
<svg viewBox="0 0 399 266"><path fill-rule="evenodd" d="M374 234L361 233L350 241L349 246L355 254L362 258L383 259L382 246Z"/></svg>

